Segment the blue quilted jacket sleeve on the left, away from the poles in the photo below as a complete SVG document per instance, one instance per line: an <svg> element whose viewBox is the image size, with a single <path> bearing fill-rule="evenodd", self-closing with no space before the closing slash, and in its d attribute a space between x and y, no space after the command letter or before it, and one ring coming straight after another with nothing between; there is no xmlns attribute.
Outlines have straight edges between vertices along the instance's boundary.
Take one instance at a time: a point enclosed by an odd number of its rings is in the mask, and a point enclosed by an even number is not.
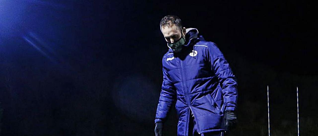
<svg viewBox="0 0 318 136"><path fill-rule="evenodd" d="M157 122L164 122L169 108L176 99L176 88L172 84L171 80L167 76L166 69L162 69L163 71L163 82L162 82L162 89L159 97L159 103L156 112L156 119L155 123Z"/></svg>

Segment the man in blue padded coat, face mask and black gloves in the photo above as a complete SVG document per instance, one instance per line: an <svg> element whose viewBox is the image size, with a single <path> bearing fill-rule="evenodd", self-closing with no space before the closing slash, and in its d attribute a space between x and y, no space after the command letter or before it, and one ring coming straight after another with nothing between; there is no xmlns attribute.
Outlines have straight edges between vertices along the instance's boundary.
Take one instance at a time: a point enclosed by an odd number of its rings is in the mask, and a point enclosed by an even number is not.
<svg viewBox="0 0 318 136"><path fill-rule="evenodd" d="M155 134L176 100L177 135L222 136L236 124L237 81L213 42L185 29L177 16L162 18L160 29L169 51L162 58L163 82Z"/></svg>

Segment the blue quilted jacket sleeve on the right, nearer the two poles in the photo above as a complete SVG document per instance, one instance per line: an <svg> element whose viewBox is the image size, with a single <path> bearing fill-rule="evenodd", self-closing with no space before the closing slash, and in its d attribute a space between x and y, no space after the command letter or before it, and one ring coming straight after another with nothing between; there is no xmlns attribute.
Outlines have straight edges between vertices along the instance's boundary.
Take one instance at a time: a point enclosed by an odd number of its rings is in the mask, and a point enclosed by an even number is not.
<svg viewBox="0 0 318 136"><path fill-rule="evenodd" d="M216 44L210 42L207 50L212 71L217 76L222 88L225 110L235 110L238 98L237 79Z"/></svg>

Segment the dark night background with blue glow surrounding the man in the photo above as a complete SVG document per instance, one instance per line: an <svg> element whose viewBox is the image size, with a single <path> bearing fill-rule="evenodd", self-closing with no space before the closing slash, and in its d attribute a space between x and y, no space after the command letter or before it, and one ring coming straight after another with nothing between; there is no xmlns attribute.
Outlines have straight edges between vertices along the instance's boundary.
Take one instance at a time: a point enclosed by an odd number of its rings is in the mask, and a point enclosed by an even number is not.
<svg viewBox="0 0 318 136"><path fill-rule="evenodd" d="M318 135L313 2L0 0L0 135L154 135L159 22L179 16L215 42L238 78L230 134ZM172 108L164 133L176 135Z"/></svg>

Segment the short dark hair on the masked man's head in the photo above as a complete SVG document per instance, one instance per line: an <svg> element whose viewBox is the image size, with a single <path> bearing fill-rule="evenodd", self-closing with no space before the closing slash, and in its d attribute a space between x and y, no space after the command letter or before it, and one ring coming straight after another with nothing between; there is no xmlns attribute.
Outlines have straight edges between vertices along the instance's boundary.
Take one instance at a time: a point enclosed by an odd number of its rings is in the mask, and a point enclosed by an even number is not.
<svg viewBox="0 0 318 136"><path fill-rule="evenodd" d="M168 26L171 27L174 24L176 27L181 31L182 30L182 24L181 24L181 19L178 16L175 15L167 15L165 17L162 17L160 21L160 30L162 26Z"/></svg>

